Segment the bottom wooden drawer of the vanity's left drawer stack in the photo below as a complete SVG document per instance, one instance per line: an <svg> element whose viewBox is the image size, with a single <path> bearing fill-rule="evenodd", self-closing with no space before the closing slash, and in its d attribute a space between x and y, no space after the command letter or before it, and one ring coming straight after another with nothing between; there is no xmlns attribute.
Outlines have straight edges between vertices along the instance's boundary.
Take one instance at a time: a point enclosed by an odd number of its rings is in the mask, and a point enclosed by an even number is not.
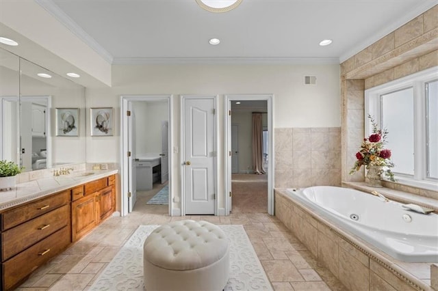
<svg viewBox="0 0 438 291"><path fill-rule="evenodd" d="M41 266L70 244L70 227L58 230L40 243L18 253L2 264L3 290L9 290L21 283L38 266Z"/></svg>

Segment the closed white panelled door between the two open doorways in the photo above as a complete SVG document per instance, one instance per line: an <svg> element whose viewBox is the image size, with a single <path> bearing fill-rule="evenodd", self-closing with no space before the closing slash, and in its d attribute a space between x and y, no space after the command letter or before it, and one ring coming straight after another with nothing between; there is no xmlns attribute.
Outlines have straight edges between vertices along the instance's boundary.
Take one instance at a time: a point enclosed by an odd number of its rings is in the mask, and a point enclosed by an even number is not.
<svg viewBox="0 0 438 291"><path fill-rule="evenodd" d="M183 99L185 214L214 214L214 98Z"/></svg>

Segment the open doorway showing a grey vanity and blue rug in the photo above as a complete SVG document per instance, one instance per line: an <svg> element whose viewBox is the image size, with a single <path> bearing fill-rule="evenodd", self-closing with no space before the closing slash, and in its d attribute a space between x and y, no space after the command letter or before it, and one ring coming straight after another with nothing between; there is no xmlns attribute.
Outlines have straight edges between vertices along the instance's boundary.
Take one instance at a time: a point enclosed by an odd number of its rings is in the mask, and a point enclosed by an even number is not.
<svg viewBox="0 0 438 291"><path fill-rule="evenodd" d="M170 213L170 96L122 96L122 215Z"/></svg>

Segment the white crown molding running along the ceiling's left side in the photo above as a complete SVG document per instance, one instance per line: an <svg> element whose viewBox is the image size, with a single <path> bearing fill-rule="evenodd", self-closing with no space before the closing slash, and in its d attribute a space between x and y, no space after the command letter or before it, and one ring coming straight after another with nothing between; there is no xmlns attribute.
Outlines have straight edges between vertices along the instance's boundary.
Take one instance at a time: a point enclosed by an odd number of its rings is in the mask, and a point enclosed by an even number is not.
<svg viewBox="0 0 438 291"><path fill-rule="evenodd" d="M70 18L64 11L62 11L53 1L51 0L34 0L38 3L44 10L49 12L53 17L55 17L60 23L62 23L68 30L73 32L80 40L85 42L90 48L92 48L96 53L98 53L105 61L112 64L113 56L108 53L103 46L101 46L94 38L92 38L86 31L84 31L75 21Z"/></svg>

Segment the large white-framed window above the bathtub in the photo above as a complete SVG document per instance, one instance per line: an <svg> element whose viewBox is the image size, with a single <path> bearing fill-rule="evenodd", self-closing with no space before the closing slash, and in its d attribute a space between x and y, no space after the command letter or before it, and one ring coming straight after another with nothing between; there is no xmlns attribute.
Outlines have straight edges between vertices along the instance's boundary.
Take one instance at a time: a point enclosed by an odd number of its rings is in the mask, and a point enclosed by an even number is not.
<svg viewBox="0 0 438 291"><path fill-rule="evenodd" d="M396 180L436 189L438 184L437 67L365 91L365 116L387 128ZM365 132L371 124L365 121Z"/></svg>

